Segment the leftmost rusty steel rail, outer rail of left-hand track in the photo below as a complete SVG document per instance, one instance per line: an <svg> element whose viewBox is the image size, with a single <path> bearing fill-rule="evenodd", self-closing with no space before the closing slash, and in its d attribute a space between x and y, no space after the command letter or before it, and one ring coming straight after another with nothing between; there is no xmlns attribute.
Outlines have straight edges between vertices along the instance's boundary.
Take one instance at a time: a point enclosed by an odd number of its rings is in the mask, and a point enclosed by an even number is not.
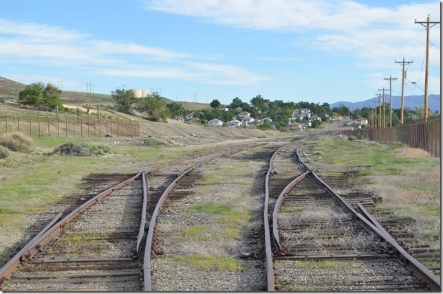
<svg viewBox="0 0 443 294"><path fill-rule="evenodd" d="M55 225L52 225L52 227L46 229L43 229L41 231L42 234L38 238L32 239L30 242L28 242L19 253L17 253L14 258L12 258L8 263L6 263L1 269L0 269L0 282L3 283L4 280L7 280L10 278L12 273L15 269L19 266L20 262L22 260L28 259L32 256L34 256L37 252L40 251L40 249L45 246L50 240L61 234L61 231L63 227L65 227L70 221L72 221L78 214L81 212L87 210L91 205L94 205L94 203L97 203L105 196L111 194L112 192L119 190L120 188L124 187L125 185L132 183L133 181L136 181L140 177L140 172L136 174L135 176L122 181L121 183L118 183L117 185L114 185L113 187L97 194L93 198L89 199L79 207L77 207L75 210L67 214L62 220L59 220L58 223Z"/></svg>

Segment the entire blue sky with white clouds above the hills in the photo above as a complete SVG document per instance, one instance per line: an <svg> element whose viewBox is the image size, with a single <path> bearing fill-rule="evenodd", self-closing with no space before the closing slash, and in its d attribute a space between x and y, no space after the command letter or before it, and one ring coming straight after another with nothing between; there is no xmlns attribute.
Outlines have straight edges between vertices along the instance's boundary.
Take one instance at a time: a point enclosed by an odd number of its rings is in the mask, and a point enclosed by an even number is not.
<svg viewBox="0 0 443 294"><path fill-rule="evenodd" d="M336 102L374 97L413 60L424 88L425 30L438 1L11 1L0 10L0 76L63 89L160 89L172 100ZM430 93L440 93L440 25ZM400 93L394 82L393 93Z"/></svg>

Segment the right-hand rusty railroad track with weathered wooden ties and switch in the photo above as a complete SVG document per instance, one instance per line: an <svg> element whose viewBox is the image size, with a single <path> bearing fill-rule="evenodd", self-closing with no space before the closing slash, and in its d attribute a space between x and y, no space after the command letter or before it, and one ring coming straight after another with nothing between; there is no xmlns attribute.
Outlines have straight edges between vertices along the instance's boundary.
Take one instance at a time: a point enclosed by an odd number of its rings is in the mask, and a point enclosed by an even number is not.
<svg viewBox="0 0 443 294"><path fill-rule="evenodd" d="M369 214L367 196L339 196L299 147L288 148L274 153L266 177L268 291L440 291L440 280Z"/></svg>

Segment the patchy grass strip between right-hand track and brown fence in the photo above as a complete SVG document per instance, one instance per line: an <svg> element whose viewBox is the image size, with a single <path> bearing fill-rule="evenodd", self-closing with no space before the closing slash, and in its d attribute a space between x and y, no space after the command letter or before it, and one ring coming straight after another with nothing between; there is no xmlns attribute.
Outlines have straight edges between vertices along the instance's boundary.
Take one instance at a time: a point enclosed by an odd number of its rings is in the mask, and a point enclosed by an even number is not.
<svg viewBox="0 0 443 294"><path fill-rule="evenodd" d="M411 229L440 248L440 159L402 144L332 136L318 139L314 154L322 157L314 164L320 167L370 165L361 174L367 182L365 188L382 196L378 205L418 220Z"/></svg>

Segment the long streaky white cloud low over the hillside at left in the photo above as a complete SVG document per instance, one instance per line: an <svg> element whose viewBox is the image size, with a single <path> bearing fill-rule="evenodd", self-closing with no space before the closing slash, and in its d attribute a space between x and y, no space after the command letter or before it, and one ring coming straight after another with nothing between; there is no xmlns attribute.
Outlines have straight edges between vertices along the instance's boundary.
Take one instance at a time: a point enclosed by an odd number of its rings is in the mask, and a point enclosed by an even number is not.
<svg viewBox="0 0 443 294"><path fill-rule="evenodd" d="M107 76L174 78L206 84L255 84L266 80L233 65L193 63L189 60L195 56L182 52L7 19L0 19L1 56L6 57L1 63L81 67Z"/></svg>

